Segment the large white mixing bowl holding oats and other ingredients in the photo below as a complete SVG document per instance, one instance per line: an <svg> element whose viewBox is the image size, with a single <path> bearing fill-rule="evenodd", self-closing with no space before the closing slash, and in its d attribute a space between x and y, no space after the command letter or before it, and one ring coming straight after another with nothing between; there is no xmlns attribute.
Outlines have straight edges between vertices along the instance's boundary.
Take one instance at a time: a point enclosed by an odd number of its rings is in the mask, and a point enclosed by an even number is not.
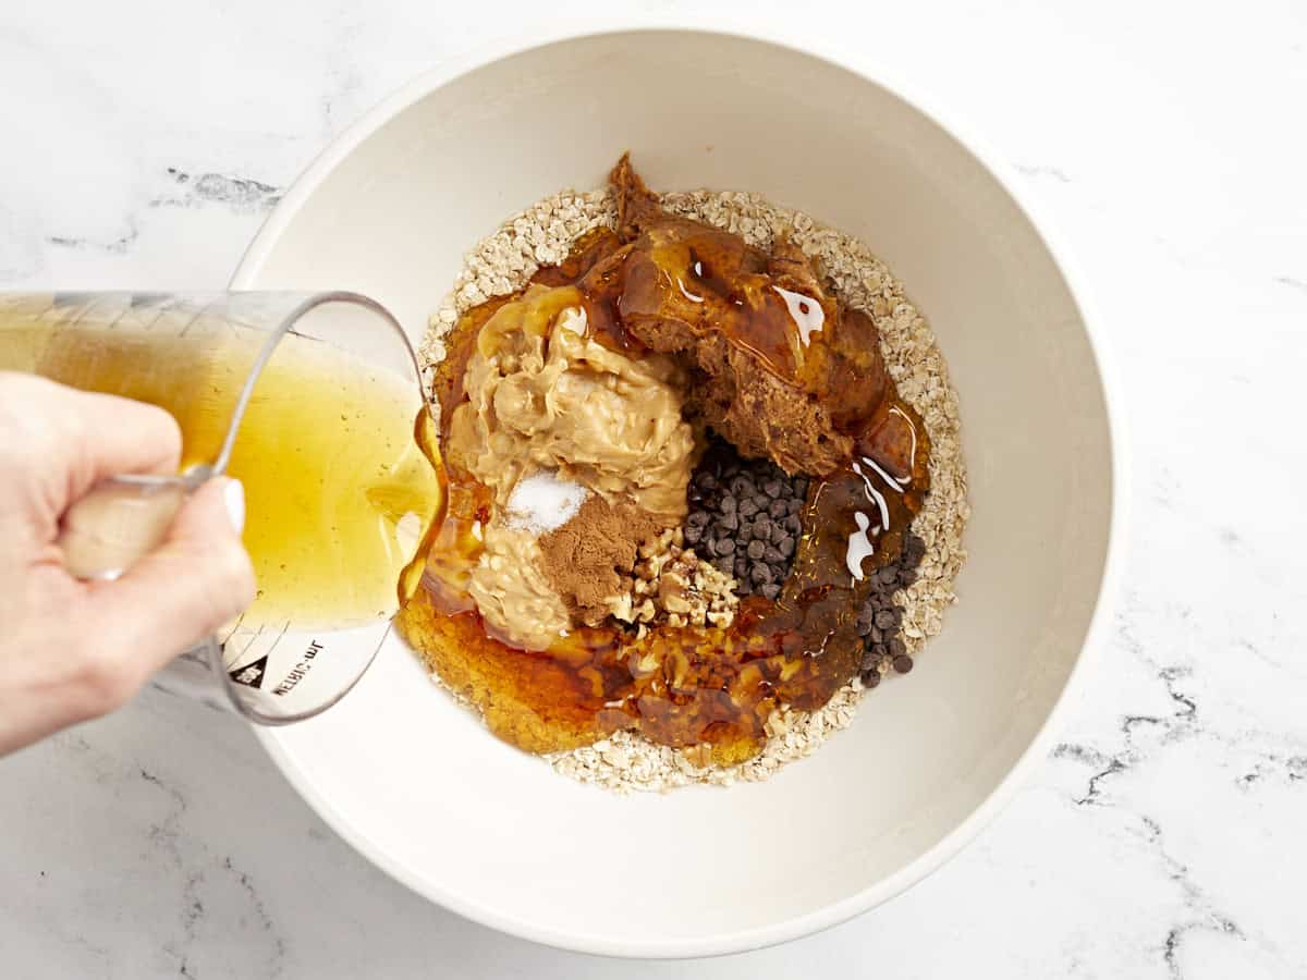
<svg viewBox="0 0 1307 980"><path fill-rule="evenodd" d="M656 188L742 188L885 257L962 404L961 602L910 678L763 784L618 798L490 737L395 642L320 719L260 732L372 861L488 925L593 953L801 936L955 853L1044 754L1107 575L1121 476L1091 324L1017 189L936 116L830 60L728 34L501 46L425 76L278 205L238 287L356 289L418 336L460 256L630 148Z"/></svg>

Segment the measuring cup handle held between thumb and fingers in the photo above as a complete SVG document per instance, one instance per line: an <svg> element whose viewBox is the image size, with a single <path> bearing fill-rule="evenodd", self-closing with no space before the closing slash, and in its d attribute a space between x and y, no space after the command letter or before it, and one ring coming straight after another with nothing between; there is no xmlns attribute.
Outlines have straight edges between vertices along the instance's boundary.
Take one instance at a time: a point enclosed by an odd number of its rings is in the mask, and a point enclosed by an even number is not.
<svg viewBox="0 0 1307 980"><path fill-rule="evenodd" d="M58 540L64 567L78 579L116 579L163 542L188 491L180 477L97 483L64 514Z"/></svg>

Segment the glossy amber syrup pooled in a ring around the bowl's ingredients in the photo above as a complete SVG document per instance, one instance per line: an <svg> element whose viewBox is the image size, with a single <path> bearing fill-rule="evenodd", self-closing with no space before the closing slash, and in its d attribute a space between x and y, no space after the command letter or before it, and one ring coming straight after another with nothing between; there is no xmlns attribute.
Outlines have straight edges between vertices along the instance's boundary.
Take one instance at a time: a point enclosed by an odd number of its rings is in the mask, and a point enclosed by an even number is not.
<svg viewBox="0 0 1307 980"><path fill-rule="evenodd" d="M699 243L716 267L724 259L712 250L736 248L725 240L733 237L721 238ZM629 248L612 231L597 230L561 265L533 277L545 286L575 285L595 338L623 351L640 346L621 325L627 295L635 295L629 290L639 289L623 261ZM710 281L711 267L702 274L698 252L676 252L668 261L691 269L699 263L693 287L714 293L718 308L710 315L729 324L729 342L753 338L778 374L802 370L796 350L799 357L802 351L792 336L782 336L780 312L762 282L765 256L754 250L725 256L732 274L742 272L748 280L744 291L727 280ZM646 274L635 267L637 276ZM518 295L469 310L448 338L448 357L435 376L446 433L464 399L463 375L481 327ZM788 331L796 333L792 320ZM663 626L637 638L616 627L582 627L542 652L486 635L467 583L493 495L451 463L443 473L443 521L433 528L422 588L401 610L400 631L451 689L481 710L491 732L527 751L572 749L630 729L663 745L707 745L718 764L742 762L762 749L778 704L819 708L857 672L856 618L868 576L898 555L929 485L925 429L897 397L881 399L878 410L857 419L850 434L850 468L814 481L809 491L793 571L775 602L745 598L728 629Z"/></svg>

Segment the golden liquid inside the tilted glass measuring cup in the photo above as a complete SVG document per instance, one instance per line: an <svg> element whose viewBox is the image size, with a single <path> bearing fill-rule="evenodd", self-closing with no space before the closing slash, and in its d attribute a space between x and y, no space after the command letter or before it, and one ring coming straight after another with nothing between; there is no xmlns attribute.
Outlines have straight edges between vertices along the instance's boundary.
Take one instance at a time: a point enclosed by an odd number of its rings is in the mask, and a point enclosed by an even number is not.
<svg viewBox="0 0 1307 980"><path fill-rule="evenodd" d="M182 468L212 463L265 335L58 327L0 304L0 367L158 405L182 429ZM259 378L227 472L244 485L257 597L243 625L339 629L393 615L401 572L442 504L435 433L413 383L288 335ZM416 427L414 427L416 426ZM399 583L399 585L397 585Z"/></svg>

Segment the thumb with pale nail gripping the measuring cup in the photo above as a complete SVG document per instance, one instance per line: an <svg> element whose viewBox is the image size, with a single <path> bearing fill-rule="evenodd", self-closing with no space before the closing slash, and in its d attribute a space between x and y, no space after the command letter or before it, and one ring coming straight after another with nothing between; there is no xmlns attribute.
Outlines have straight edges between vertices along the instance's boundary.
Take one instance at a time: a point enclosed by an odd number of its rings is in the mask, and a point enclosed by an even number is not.
<svg viewBox="0 0 1307 980"><path fill-rule="evenodd" d="M141 679L231 619L254 600L250 555L240 544L244 489L220 477L178 511L154 551L94 589L102 636Z"/></svg>

